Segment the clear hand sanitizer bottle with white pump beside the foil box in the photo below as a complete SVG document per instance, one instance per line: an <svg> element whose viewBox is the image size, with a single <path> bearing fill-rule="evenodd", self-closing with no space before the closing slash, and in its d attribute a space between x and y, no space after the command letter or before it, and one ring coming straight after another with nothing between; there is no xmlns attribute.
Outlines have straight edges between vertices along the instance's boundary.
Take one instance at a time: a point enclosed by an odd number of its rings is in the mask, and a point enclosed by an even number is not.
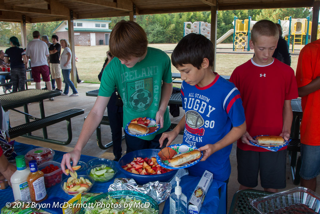
<svg viewBox="0 0 320 214"><path fill-rule="evenodd" d="M176 176L177 186L170 194L170 214L187 214L187 196L181 192L180 179Z"/></svg>

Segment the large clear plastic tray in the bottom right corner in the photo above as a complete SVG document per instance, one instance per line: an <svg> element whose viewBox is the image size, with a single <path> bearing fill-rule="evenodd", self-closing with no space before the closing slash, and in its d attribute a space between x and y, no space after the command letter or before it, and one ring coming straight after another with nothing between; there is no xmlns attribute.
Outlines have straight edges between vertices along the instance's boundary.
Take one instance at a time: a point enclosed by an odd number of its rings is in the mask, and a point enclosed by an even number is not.
<svg viewBox="0 0 320 214"><path fill-rule="evenodd" d="M320 211L320 196L300 186L249 201L259 213L319 213Z"/></svg>

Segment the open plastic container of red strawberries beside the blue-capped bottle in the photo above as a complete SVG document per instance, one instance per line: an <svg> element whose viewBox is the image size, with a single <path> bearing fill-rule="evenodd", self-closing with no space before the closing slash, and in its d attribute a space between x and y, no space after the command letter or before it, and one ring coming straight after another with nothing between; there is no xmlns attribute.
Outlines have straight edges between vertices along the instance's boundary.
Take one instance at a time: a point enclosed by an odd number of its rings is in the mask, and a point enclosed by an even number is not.
<svg viewBox="0 0 320 214"><path fill-rule="evenodd" d="M44 173L44 185L50 188L62 181L62 169L60 163L50 160L41 164L38 169Z"/></svg>

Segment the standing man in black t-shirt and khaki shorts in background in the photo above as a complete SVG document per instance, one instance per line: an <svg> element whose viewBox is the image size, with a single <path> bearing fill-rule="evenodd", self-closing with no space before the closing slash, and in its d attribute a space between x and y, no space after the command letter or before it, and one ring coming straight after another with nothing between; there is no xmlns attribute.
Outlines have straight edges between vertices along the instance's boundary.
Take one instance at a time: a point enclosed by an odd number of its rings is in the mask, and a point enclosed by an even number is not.
<svg viewBox="0 0 320 214"><path fill-rule="evenodd" d="M51 77L57 82L56 91L61 91L62 81L61 81L61 70L60 70L60 54L61 54L61 45L58 43L59 37L57 35L52 35L53 44L49 47L50 53L50 72Z"/></svg>

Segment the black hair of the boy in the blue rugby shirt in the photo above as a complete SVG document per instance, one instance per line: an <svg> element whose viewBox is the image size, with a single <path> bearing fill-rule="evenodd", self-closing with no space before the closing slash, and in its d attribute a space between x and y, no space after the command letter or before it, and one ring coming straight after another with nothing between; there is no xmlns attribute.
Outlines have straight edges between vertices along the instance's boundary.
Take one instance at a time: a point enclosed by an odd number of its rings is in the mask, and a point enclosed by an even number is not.
<svg viewBox="0 0 320 214"><path fill-rule="evenodd" d="M192 64L200 69L204 58L209 60L209 65L212 67L214 60L212 42L204 35L190 33L183 37L174 48L171 62L175 67L182 66L182 64Z"/></svg>

